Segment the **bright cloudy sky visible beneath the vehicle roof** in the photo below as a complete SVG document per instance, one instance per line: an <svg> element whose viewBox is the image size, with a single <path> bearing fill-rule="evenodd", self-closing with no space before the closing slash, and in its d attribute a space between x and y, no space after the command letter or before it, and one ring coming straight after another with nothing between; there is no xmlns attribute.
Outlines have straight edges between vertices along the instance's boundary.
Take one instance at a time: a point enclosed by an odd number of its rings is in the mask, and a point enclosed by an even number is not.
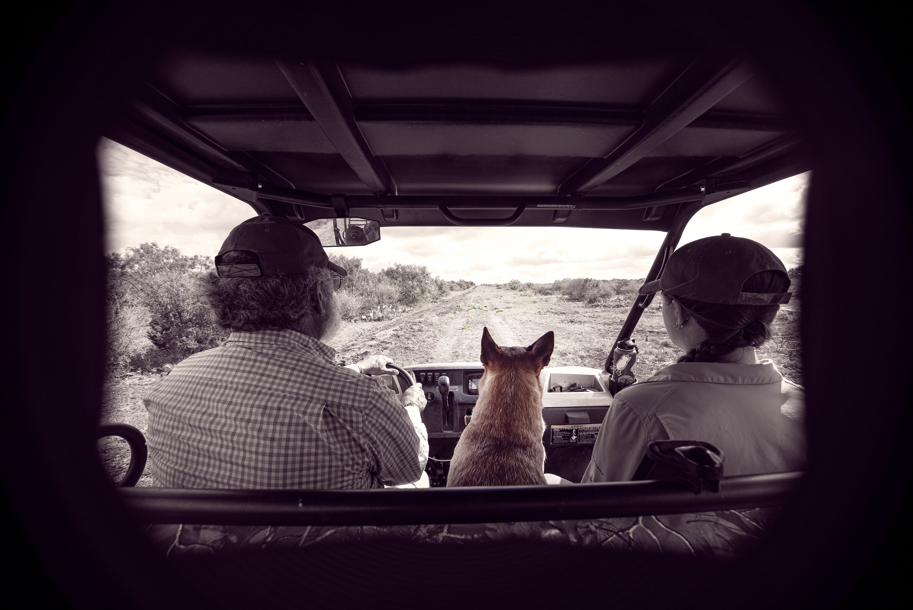
<svg viewBox="0 0 913 610"><path fill-rule="evenodd" d="M233 226L256 216L246 203L116 142L100 142L99 160L106 252L155 242L213 257ZM691 219L679 243L720 233L749 237L771 248L786 268L796 267L802 264L808 183L809 174L799 174L708 205ZM368 246L328 250L362 258L372 271L394 262L417 263L443 279L477 284L638 279L664 236L567 226L384 226L381 233L381 240Z"/></svg>

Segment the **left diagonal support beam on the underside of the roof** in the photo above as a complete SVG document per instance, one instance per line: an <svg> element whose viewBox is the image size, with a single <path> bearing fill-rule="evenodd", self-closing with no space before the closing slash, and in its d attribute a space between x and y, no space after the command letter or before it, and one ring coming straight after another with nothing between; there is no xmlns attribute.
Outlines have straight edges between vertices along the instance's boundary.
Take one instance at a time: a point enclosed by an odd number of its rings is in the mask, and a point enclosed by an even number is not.
<svg viewBox="0 0 913 610"><path fill-rule="evenodd" d="M276 63L310 115L336 150L374 195L396 195L396 184L381 160L374 156L355 122L352 96L333 61Z"/></svg>

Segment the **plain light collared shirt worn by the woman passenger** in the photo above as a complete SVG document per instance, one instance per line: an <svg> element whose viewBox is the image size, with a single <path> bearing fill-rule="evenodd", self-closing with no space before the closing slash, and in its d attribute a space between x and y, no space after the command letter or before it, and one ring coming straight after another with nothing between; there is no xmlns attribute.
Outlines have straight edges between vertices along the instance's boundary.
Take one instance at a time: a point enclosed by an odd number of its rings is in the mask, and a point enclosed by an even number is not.
<svg viewBox="0 0 913 610"><path fill-rule="evenodd" d="M725 476L805 467L804 390L770 360L677 363L615 395L582 483L627 481L655 440L698 440Z"/></svg>

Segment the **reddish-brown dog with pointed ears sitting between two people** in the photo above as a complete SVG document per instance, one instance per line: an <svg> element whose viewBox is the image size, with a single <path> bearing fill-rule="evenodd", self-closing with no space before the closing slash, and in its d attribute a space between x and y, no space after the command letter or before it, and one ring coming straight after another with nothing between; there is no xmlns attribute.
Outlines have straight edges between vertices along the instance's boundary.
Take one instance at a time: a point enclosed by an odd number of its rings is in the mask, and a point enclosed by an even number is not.
<svg viewBox="0 0 913 610"><path fill-rule="evenodd" d="M472 421L450 460L447 487L545 485L539 373L554 347L551 331L527 348L498 347L488 328L482 331L485 373Z"/></svg>

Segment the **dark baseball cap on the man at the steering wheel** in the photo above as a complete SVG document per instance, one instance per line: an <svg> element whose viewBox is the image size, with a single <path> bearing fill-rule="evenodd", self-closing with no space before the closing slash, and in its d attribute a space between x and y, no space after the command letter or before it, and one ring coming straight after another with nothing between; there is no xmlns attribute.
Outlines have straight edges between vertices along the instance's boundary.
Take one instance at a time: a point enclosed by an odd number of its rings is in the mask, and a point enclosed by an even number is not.
<svg viewBox="0 0 913 610"><path fill-rule="evenodd" d="M259 262L223 265L222 255L234 250L254 252ZM345 269L330 262L320 246L320 237L310 228L269 214L248 218L233 228L215 257L215 269L222 278L303 273L310 265L329 268L343 278L346 276Z"/></svg>

